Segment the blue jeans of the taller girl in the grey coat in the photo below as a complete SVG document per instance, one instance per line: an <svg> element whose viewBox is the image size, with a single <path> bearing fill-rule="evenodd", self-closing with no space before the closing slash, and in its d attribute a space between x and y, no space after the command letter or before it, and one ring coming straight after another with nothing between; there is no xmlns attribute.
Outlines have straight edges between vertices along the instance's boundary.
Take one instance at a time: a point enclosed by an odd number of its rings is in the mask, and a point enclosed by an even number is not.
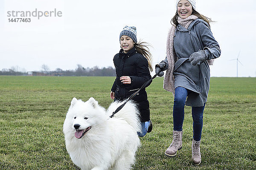
<svg viewBox="0 0 256 170"><path fill-rule="evenodd" d="M184 107L189 90L183 87L175 88L174 105L173 105L173 130L181 131L184 121ZM192 107L193 119L193 139L195 141L201 140L203 128L203 112L204 106Z"/></svg>

